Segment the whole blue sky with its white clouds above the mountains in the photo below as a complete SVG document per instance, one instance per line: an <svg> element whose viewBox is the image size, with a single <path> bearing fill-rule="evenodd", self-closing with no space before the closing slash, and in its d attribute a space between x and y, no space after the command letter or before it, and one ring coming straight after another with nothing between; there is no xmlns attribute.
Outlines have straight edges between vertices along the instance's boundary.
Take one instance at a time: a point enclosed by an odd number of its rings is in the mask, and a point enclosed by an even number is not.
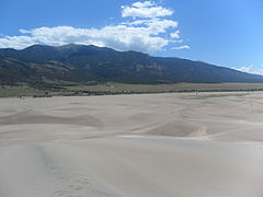
<svg viewBox="0 0 263 197"><path fill-rule="evenodd" d="M263 1L0 1L1 48L67 43L263 73Z"/></svg>

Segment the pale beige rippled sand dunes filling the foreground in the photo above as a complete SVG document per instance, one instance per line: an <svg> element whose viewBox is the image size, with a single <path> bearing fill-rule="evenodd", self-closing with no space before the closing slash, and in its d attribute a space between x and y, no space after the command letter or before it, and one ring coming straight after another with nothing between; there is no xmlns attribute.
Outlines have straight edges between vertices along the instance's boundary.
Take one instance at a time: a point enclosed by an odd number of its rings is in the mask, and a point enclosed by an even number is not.
<svg viewBox="0 0 263 197"><path fill-rule="evenodd" d="M263 93L0 100L0 197L262 197Z"/></svg>

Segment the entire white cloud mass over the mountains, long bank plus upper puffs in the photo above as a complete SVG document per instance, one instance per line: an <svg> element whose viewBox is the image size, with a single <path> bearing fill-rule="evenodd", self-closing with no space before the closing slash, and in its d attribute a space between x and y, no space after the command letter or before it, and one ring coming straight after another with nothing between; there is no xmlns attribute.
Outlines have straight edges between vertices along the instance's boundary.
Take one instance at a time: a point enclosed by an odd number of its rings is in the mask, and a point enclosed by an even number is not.
<svg viewBox="0 0 263 197"><path fill-rule="evenodd" d="M0 37L0 48L22 49L34 44L65 45L69 43L106 46L116 50L137 50L152 53L162 50L170 43L180 42L178 22L160 16L170 15L172 11L158 7L152 1L135 2L132 7L123 8L139 9L148 14L145 19L122 22L116 25L104 26L102 28L76 28L72 26L38 27L33 30L20 30L20 36ZM153 11L155 9L160 12ZM126 10L127 11L127 10ZM127 14L127 12L125 13ZM163 14L165 13L167 14ZM132 15L129 15L132 16ZM142 16L144 18L144 16ZM170 34L170 32L173 32ZM168 38L170 34L170 37ZM179 49L188 48L181 46Z"/></svg>

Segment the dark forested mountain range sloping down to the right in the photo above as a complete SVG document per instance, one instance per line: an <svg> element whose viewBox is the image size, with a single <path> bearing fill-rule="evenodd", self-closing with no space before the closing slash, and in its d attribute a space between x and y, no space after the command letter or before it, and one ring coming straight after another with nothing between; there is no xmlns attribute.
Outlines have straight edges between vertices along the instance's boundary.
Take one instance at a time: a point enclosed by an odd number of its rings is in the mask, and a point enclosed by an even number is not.
<svg viewBox="0 0 263 197"><path fill-rule="evenodd" d="M0 83L261 83L263 76L174 57L151 57L93 45L0 49Z"/></svg>

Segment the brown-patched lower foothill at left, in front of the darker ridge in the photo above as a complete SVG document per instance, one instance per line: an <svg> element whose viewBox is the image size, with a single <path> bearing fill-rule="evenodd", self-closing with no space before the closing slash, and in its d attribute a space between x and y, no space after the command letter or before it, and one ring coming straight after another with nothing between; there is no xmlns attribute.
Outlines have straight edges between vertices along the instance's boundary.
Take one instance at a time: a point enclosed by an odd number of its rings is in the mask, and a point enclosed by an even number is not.
<svg viewBox="0 0 263 197"><path fill-rule="evenodd" d="M94 79L72 66L57 61L43 65L0 57L0 84L42 83L48 81L83 82Z"/></svg>

